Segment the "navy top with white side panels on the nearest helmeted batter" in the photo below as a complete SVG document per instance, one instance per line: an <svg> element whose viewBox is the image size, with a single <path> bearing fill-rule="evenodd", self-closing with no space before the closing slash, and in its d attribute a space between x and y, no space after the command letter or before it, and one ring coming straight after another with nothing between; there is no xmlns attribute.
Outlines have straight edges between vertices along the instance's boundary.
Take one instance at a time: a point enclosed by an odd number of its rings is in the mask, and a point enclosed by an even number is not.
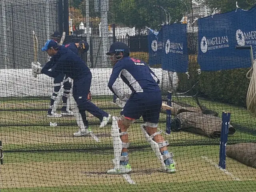
<svg viewBox="0 0 256 192"><path fill-rule="evenodd" d="M146 63L140 60L124 57L113 67L108 87L118 98L122 98L123 93L116 85L119 76L132 92L160 92L159 79Z"/></svg>

